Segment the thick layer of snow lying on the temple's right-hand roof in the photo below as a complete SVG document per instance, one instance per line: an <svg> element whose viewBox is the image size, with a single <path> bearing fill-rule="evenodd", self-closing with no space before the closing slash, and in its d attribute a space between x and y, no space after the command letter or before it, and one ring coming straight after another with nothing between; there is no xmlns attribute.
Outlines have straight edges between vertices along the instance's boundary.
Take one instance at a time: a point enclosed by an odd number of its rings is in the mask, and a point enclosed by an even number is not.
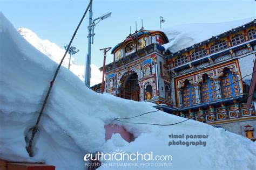
<svg viewBox="0 0 256 170"><path fill-rule="evenodd" d="M170 52L174 53L207 40L212 36L218 36L235 27L250 23L253 20L254 18L246 18L225 23L197 23L167 27L161 29L169 39L169 43L163 46L165 49L169 49Z"/></svg>

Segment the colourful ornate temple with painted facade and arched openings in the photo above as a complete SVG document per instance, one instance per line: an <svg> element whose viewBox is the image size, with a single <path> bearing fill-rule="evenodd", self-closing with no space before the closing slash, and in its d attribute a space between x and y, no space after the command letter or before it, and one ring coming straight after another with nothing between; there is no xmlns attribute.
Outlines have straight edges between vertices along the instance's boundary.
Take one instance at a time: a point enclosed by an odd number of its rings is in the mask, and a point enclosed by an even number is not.
<svg viewBox="0 0 256 170"><path fill-rule="evenodd" d="M163 47L169 42L164 32L142 28L113 47L104 92L156 103L169 114L196 116L255 140L255 96L248 95L250 88L255 92L254 25L255 20L179 51Z"/></svg>

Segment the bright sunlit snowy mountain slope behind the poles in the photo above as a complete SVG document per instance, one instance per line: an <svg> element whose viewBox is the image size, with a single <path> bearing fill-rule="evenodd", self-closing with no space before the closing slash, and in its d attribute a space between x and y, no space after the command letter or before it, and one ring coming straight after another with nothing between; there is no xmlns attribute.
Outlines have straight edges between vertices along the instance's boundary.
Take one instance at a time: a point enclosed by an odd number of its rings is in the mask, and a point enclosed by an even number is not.
<svg viewBox="0 0 256 170"><path fill-rule="evenodd" d="M25 38L32 46L36 47L39 51L49 56L50 59L59 63L62 59L65 49L60 48L49 40L42 40L37 36L36 33L24 27L19 27L18 32ZM62 66L68 68L70 55L67 54ZM84 81L84 66L78 66L75 64L75 59L71 57L70 70L79 77L80 80ZM102 81L102 73L99 68L95 65L91 65L91 86L98 84Z"/></svg>

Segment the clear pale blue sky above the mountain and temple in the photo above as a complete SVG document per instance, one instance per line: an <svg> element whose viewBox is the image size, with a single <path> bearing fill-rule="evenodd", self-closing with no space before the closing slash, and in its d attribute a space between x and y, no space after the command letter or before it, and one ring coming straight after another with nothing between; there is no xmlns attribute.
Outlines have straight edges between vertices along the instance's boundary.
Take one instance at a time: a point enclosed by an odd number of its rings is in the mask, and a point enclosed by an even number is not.
<svg viewBox="0 0 256 170"><path fill-rule="evenodd" d="M63 47L68 44L89 0L0 0L0 10L18 29L32 30L41 39L48 39ZM159 17L166 22L162 27L187 23L218 23L255 17L254 0L95 0L93 18L106 12L112 16L102 20L95 29L91 62L102 66L100 48L114 47L141 25L145 30L160 29ZM72 46L80 49L74 55L77 65L84 65L87 53L88 15L84 19ZM189 28L188 28L189 29ZM214 36L214 35L213 35ZM112 62L109 52L106 62Z"/></svg>

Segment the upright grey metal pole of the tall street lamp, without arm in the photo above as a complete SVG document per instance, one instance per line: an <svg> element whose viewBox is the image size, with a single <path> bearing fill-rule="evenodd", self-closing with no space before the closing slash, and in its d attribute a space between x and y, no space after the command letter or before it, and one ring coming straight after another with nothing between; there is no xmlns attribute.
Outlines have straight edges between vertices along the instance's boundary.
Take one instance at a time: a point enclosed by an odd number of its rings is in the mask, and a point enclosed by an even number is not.
<svg viewBox="0 0 256 170"><path fill-rule="evenodd" d="M87 87L90 88L90 79L91 79L91 36L92 36L92 3L89 9L89 25L88 25L88 53L86 59L86 70L85 70L85 78L84 83Z"/></svg>

